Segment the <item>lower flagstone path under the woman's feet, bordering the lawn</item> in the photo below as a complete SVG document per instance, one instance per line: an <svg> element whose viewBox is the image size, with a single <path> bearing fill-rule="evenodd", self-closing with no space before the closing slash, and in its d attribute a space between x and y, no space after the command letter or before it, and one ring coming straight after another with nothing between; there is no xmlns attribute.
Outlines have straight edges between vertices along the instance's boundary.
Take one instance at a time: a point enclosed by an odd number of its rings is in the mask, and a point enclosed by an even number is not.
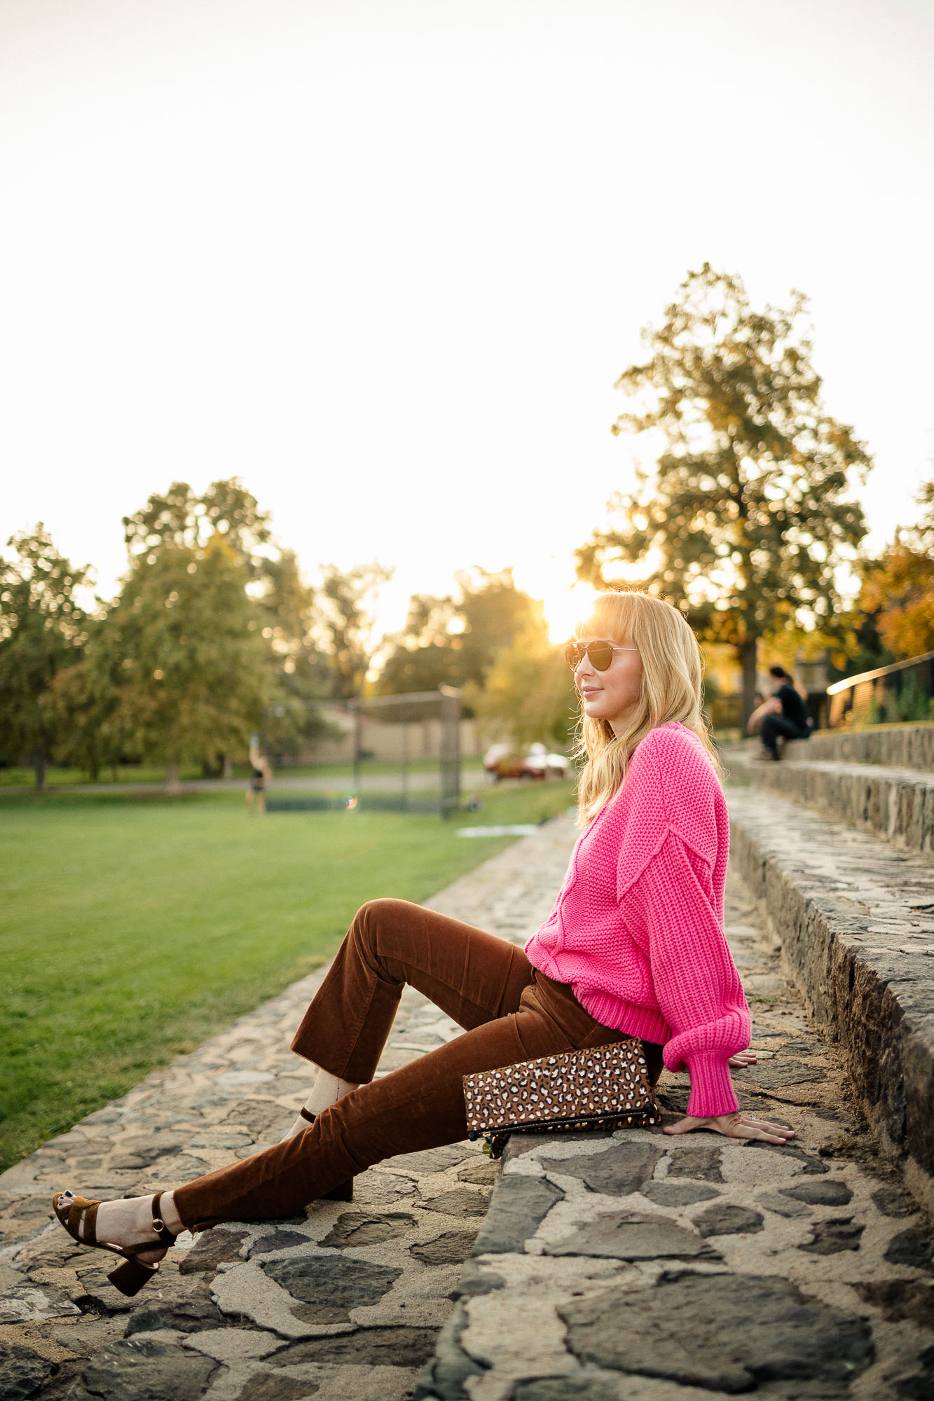
<svg viewBox="0 0 934 1401"><path fill-rule="evenodd" d="M524 941L547 916L575 839L550 822L456 881L431 908ZM111 1258L73 1247L53 1191L171 1188L275 1143L309 1091L289 1051L320 968L0 1177L0 1401L395 1401L452 1309L496 1164L473 1143L393 1159L275 1226L185 1234L136 1299ZM386 1075L459 1028L405 989ZM266 1362L265 1359L275 1358Z"/></svg>

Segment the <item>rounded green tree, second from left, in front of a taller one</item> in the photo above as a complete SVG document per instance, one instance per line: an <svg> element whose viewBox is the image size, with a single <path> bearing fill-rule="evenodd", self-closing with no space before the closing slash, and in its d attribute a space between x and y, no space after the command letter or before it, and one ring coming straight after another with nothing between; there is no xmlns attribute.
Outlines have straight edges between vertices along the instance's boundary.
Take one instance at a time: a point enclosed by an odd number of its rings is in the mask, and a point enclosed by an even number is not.
<svg viewBox="0 0 934 1401"><path fill-rule="evenodd" d="M74 678L90 700L86 731L107 720L108 757L116 747L164 764L172 787L180 765L248 747L275 679L262 611L245 583L243 558L223 535L132 559Z"/></svg>

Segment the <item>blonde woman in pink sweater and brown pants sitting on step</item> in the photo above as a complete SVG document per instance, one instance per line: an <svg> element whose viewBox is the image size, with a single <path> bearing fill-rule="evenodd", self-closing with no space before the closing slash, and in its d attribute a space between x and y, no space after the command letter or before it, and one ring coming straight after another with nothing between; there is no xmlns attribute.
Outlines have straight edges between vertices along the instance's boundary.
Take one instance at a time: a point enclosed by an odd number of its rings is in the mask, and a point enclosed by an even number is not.
<svg viewBox="0 0 934 1401"><path fill-rule="evenodd" d="M687 1112L665 1133L794 1136L740 1112L729 1076L756 1056L724 936L729 821L697 640L670 604L606 593L567 656L583 831L548 919L523 951L408 901L363 905L292 1042L318 1069L280 1143L156 1196L53 1198L76 1240L125 1257L118 1288L135 1293L181 1230L349 1201L372 1164L460 1142L464 1075L625 1037L641 1038L652 1083L662 1063L690 1075ZM373 1079L407 984L463 1035Z"/></svg>

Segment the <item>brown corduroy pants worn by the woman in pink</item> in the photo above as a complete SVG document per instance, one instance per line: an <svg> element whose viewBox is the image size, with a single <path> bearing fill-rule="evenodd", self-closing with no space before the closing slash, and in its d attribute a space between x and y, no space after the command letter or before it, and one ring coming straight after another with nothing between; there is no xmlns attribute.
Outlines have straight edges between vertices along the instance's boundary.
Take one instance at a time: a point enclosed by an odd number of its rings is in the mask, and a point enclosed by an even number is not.
<svg viewBox="0 0 934 1401"><path fill-rule="evenodd" d="M464 1034L373 1080L405 984ZM175 1209L194 1230L292 1216L373 1163L466 1138L461 1076L620 1038L515 944L404 899L370 901L292 1042L359 1089L303 1133L177 1188ZM645 1051L655 1080L661 1048Z"/></svg>

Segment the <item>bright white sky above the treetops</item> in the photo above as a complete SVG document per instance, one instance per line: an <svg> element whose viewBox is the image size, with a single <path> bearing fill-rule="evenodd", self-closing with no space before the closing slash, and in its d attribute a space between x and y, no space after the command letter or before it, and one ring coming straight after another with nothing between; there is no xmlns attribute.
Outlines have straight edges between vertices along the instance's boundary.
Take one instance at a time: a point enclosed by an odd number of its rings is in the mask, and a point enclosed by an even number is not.
<svg viewBox="0 0 934 1401"><path fill-rule="evenodd" d="M555 636L686 272L811 297L882 545L934 458L931 0L3 0L0 545L97 570L238 475L380 625L513 566Z"/></svg>

